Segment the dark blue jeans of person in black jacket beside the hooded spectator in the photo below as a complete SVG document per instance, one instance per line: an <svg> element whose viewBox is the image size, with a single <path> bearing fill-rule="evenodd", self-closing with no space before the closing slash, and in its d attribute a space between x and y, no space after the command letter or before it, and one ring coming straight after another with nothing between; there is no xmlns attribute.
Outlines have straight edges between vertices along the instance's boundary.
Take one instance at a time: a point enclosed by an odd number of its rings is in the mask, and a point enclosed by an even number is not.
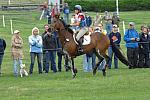
<svg viewBox="0 0 150 100"><path fill-rule="evenodd" d="M51 61L51 66L53 69L53 72L57 72L56 69L56 51L46 51L46 69L45 69L45 73L49 72L49 61Z"/></svg>

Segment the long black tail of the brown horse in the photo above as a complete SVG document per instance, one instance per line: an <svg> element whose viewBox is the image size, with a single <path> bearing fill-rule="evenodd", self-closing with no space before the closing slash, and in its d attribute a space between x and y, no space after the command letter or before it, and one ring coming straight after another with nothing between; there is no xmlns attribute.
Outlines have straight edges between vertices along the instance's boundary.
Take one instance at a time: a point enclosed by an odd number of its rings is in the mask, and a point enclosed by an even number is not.
<svg viewBox="0 0 150 100"><path fill-rule="evenodd" d="M115 44L112 44L112 50L113 52L116 54L116 56L118 57L118 59L124 63L127 66L130 66L129 61L127 60L127 58L125 57L122 49L120 48L120 46L117 46Z"/></svg>

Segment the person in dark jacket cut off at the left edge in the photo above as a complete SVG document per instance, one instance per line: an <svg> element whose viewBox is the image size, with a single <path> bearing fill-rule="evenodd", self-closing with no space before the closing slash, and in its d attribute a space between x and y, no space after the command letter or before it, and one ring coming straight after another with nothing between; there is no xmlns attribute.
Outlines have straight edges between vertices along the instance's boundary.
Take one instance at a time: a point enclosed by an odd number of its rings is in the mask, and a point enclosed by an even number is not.
<svg viewBox="0 0 150 100"><path fill-rule="evenodd" d="M0 38L0 76L2 75L1 65L2 65L2 61L3 61L5 48L6 48L6 42L4 39Z"/></svg>

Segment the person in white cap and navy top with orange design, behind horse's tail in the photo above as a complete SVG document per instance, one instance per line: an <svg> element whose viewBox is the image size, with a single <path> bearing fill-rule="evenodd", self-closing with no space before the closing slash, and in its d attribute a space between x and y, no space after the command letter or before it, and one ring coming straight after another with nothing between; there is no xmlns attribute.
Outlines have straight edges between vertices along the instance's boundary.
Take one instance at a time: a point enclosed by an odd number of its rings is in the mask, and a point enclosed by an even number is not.
<svg viewBox="0 0 150 100"><path fill-rule="evenodd" d="M118 26L116 24L113 25L112 32L109 34L109 39L110 39L110 46L108 48L108 55L110 57L109 63L108 63L108 68L111 69L112 65L112 57L113 57L113 51L112 51L112 45L117 45L120 46L121 42L121 34L118 32ZM114 67L115 69L118 69L118 58L116 54L114 53Z"/></svg>

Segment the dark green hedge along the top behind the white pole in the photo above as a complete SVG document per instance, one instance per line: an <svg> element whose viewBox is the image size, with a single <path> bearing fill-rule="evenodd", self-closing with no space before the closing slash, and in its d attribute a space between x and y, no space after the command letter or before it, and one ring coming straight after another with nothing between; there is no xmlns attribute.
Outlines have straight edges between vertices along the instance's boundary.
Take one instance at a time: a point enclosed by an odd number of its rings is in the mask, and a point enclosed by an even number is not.
<svg viewBox="0 0 150 100"><path fill-rule="evenodd" d="M84 11L116 11L116 0L65 0L71 10L80 4ZM150 0L119 0L120 11L150 10Z"/></svg>

